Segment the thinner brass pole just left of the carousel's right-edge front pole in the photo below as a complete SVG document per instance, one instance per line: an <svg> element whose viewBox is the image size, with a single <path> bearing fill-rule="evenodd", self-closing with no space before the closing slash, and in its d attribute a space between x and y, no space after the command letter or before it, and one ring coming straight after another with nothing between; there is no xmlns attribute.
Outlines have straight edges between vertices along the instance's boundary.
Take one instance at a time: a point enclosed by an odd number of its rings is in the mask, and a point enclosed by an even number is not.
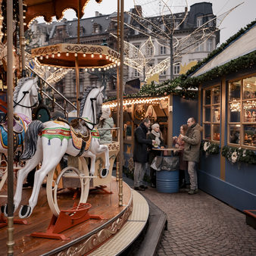
<svg viewBox="0 0 256 256"><path fill-rule="evenodd" d="M120 0L117 0L117 52L120 52ZM120 68L117 65L117 127L120 127L120 113L119 113L119 90L120 90ZM117 138L120 138L120 130L117 131ZM120 140L119 140L120 141ZM120 154L117 155L117 164L116 164L116 181L119 181L119 158Z"/></svg>

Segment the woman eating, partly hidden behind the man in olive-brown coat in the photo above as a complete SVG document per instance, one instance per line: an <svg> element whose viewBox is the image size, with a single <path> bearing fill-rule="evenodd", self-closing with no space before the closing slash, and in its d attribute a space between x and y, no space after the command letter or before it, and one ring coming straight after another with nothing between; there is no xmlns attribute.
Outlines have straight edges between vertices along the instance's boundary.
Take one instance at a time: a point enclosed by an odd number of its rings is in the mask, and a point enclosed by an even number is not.
<svg viewBox="0 0 256 256"><path fill-rule="evenodd" d="M184 153L184 145L185 142L183 139L181 139L181 135L186 135L186 131L188 130L188 126L186 124L183 124L180 126L180 135L173 137L173 144L175 145L175 148L178 148L178 155L179 155L179 162L180 162L180 171L179 171L179 183L180 183L180 189L186 186L186 179L185 176L187 176L185 173L188 170L188 162L183 160L183 153Z"/></svg>

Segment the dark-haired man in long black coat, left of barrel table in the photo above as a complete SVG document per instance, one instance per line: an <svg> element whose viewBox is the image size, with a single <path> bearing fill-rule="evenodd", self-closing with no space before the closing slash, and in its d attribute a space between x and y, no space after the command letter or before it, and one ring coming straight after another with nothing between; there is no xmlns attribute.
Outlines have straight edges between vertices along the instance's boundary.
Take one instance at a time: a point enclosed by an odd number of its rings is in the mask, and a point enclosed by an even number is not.
<svg viewBox="0 0 256 256"><path fill-rule="evenodd" d="M147 159L147 146L155 144L155 140L146 139L150 120L145 118L134 133L134 189L144 191L147 187L144 186L143 177L145 174Z"/></svg>

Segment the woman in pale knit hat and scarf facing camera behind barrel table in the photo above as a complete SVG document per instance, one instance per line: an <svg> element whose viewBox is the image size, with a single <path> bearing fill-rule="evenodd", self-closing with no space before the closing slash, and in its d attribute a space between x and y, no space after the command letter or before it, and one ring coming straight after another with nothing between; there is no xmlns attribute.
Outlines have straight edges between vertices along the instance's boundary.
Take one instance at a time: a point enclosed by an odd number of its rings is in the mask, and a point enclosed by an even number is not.
<svg viewBox="0 0 256 256"><path fill-rule="evenodd" d="M156 151L154 148L164 148L164 141L163 141L163 137L162 137L162 133L160 131L160 126L158 123L154 123L151 126L151 133L148 134L148 138L147 139L152 139L155 140L155 145L151 145L149 148L151 149L149 151L149 156L148 156L148 164L149 166L151 165L153 159L157 156L157 155L161 155L161 151ZM150 180L151 180L151 187L155 188L156 187L156 176L155 176L155 169L150 167Z"/></svg>

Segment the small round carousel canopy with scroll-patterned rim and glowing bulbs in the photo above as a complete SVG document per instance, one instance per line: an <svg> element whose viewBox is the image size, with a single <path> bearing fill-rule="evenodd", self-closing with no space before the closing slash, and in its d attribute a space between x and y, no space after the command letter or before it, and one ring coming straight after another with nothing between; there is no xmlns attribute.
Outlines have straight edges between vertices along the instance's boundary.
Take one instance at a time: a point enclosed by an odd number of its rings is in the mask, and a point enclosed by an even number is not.
<svg viewBox="0 0 256 256"><path fill-rule="evenodd" d="M31 55L42 65L74 68L76 57L80 68L116 67L120 64L120 55L105 45L80 45L62 43L34 48Z"/></svg>

